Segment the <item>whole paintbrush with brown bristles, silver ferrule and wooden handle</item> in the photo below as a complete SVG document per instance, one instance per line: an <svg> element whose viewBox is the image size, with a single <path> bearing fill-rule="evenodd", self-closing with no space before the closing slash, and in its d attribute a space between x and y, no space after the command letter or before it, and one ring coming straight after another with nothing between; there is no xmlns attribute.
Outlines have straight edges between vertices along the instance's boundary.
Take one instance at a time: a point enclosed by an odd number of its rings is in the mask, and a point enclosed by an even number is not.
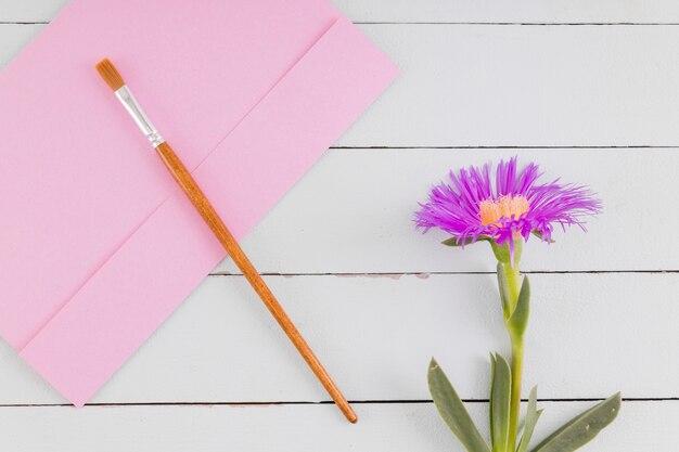
<svg viewBox="0 0 679 452"><path fill-rule="evenodd" d="M203 217L203 220L205 220L209 229L217 236L219 243L221 243L238 268L241 269L243 275L247 279L247 282L253 286L257 295L259 295L261 301L264 301L266 307L269 309L269 312L271 312L276 321L279 325L281 325L290 340L292 340L294 346L299 351L299 354L302 354L309 367L311 367L311 371L313 371L330 397L332 397L340 410L342 410L342 413L344 413L349 422L356 423L358 417L337 388L337 385L335 385L325 369L321 365L318 358L316 358L316 354L313 354L309 345L306 340L304 340L302 334L299 334L299 331L290 320L281 304L276 299L257 270L253 267L247 256L245 256L245 253L243 253L243 249L238 244L227 225L223 223L221 218L219 218L219 215L209 203L198 184L195 182L189 170L187 170L169 144L165 142L163 137L149 120L149 117L142 111L130 89L125 85L125 81L116 67L113 63L111 63L111 61L104 59L97 64L97 70L115 92L123 105L125 105L125 108L127 108L141 131L146 135L146 139L151 142L172 178L175 178L177 183L179 183L193 206L201 214L201 217Z"/></svg>

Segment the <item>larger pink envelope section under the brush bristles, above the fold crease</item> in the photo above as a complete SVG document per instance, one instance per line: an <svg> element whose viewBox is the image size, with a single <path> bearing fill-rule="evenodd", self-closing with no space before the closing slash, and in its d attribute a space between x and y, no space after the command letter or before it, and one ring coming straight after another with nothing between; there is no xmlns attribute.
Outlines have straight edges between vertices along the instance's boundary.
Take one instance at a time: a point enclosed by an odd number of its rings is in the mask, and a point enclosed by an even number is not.
<svg viewBox="0 0 679 452"><path fill-rule="evenodd" d="M93 65L195 168L337 20L325 0L74 0L0 73L0 334L22 349L174 190ZM124 113L124 112L123 112ZM36 284L36 264L42 272Z"/></svg>

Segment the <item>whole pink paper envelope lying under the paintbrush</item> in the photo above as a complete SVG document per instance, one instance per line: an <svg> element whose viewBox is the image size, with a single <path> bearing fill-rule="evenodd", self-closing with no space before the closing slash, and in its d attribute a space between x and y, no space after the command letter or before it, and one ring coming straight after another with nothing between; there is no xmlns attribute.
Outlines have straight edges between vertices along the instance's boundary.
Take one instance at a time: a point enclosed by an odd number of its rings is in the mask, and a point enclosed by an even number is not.
<svg viewBox="0 0 679 452"><path fill-rule="evenodd" d="M0 334L76 405L225 257L103 56L236 237L397 73L326 0L73 0L0 73Z"/></svg>

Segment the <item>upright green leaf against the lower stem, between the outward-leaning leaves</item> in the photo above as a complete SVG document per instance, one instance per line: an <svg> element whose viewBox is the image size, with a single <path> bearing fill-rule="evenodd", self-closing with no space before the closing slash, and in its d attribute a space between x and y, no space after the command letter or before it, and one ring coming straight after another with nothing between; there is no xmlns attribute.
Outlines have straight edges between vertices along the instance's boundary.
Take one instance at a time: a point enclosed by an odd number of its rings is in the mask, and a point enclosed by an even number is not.
<svg viewBox="0 0 679 452"><path fill-rule="evenodd" d="M491 357L492 383L490 385L490 438L492 452L509 452L510 396L512 374L500 356Z"/></svg>

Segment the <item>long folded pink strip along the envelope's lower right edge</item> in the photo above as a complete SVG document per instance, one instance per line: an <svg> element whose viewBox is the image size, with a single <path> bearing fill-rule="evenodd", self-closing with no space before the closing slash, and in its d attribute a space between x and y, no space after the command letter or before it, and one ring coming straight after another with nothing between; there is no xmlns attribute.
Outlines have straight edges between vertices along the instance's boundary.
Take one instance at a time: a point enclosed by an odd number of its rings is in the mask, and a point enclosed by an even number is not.
<svg viewBox="0 0 679 452"><path fill-rule="evenodd" d="M227 223L232 215L247 217L248 227L233 231L236 237L241 238L254 227L397 72L344 17L317 41L193 172ZM309 86L309 81L313 85ZM337 83L345 83L340 94ZM298 95L300 87L306 87L305 95ZM305 116L299 124L286 125L292 129L283 129L281 124L286 119L283 115L293 106L297 115ZM329 112L333 106L337 111ZM329 113L336 117L326 121L330 124L326 130L312 133L310 129L317 125L318 115ZM253 130L260 130L262 125L269 125L271 133L253 135ZM234 185L239 175L228 173L225 163L234 154L243 164L248 153L271 152L281 142L292 145L293 137L300 142L295 147L300 150L298 158L289 168L266 170L269 178L280 173L276 188L257 186L259 196L268 196L267 202L258 204L255 210L239 207L239 190L243 190ZM240 165L239 169L242 168ZM177 191L34 337L21 356L75 405L81 406L223 256L209 230ZM163 262L163 268L158 268L158 262Z"/></svg>

